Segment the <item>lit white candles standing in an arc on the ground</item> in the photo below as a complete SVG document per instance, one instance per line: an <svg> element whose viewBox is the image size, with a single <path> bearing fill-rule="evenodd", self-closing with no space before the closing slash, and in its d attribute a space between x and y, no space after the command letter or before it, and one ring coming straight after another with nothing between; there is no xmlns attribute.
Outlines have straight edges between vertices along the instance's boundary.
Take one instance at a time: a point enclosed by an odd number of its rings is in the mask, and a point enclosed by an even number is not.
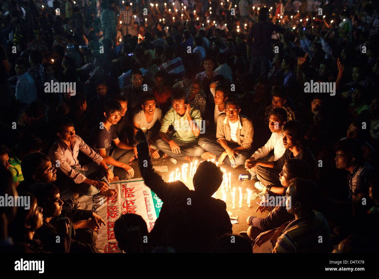
<svg viewBox="0 0 379 279"><path fill-rule="evenodd" d="M212 159L212 160L208 160L208 161L211 161L211 162L215 162L215 159ZM218 162L216 162L216 165L218 165ZM193 177L196 173L196 166L197 166L197 160L192 163L191 162L191 165L190 165L190 169L189 169L189 177ZM170 177L169 177L169 182L174 182L176 180L180 180L180 181L183 181L183 182L186 182L187 180L187 169L188 169L188 164L183 164L182 165L182 172L180 173L179 172L179 168L177 168L175 170L175 172L171 172L170 174ZM229 172L229 177L227 175L227 172L225 169L223 169L222 167L220 168L223 175L222 175L222 183L221 183L221 194L222 194L222 200L224 202L226 202L226 192L228 191L228 188L232 188L232 185L231 185L231 174ZM174 176L175 175L175 176ZM240 196L239 196L239 207L241 208L242 207L242 188L239 187L238 188L240 190ZM251 207L251 194L252 194L252 191L250 189L246 189L247 191L247 206L248 207ZM216 193L212 195L212 197L215 197L216 196ZM232 208L235 209L235 187L233 187L233 191L232 191Z"/></svg>

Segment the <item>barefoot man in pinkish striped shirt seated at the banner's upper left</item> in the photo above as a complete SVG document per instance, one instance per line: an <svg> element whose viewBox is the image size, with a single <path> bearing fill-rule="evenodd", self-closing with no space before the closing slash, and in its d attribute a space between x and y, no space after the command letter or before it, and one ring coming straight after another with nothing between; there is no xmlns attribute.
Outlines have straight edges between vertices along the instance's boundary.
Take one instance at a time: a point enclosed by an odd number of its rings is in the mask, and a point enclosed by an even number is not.
<svg viewBox="0 0 379 279"><path fill-rule="evenodd" d="M81 137L75 135L72 121L61 118L57 127L58 140L49 150L49 157L56 162L57 174L60 186L67 200L78 197L78 194L94 195L100 192L102 195L111 197L117 194L116 189L109 189L109 181L113 179L113 172L106 165L103 158L92 150ZM79 150L86 154L93 162L81 166L78 160ZM101 166L100 166L101 165ZM92 180L88 177L100 180Z"/></svg>

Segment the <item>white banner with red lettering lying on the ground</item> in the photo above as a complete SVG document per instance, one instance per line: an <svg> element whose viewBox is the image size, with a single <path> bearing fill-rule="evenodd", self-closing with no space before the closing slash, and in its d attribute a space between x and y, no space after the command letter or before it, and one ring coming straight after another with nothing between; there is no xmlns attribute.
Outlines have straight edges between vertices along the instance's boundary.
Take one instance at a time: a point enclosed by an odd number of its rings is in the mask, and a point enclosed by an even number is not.
<svg viewBox="0 0 379 279"><path fill-rule="evenodd" d="M122 214L138 214L146 221L147 229L150 232L155 219L159 216L163 202L145 185L141 178L116 181L110 184L110 189L117 189L117 196L82 196L77 200L80 202L81 209L94 211L106 223L106 227L102 225L99 230L97 249L102 253L120 253L113 232L114 222Z"/></svg>

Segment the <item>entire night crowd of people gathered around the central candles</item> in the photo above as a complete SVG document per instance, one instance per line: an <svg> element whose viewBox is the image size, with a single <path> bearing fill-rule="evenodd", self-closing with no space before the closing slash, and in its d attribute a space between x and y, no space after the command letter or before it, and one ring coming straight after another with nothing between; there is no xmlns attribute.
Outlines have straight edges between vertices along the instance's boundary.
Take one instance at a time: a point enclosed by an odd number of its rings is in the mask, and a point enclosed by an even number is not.
<svg viewBox="0 0 379 279"><path fill-rule="evenodd" d="M2 251L99 252L105 222L77 198L117 195L110 182L133 178L134 160L163 206L150 233L141 216L119 217L124 252L378 251L378 3L9 0L0 11L0 196L31 201L0 206ZM194 191L154 172L169 157L201 157ZM257 211L270 212L238 235L212 197L221 165L248 173Z"/></svg>

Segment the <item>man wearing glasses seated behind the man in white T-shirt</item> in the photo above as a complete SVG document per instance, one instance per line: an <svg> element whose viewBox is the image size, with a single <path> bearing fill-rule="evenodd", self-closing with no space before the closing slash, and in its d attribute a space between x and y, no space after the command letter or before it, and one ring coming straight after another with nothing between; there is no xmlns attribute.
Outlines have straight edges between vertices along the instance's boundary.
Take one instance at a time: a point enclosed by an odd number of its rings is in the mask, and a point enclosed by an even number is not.
<svg viewBox="0 0 379 279"><path fill-rule="evenodd" d="M128 98L128 107L133 115L141 105L142 96L153 91L147 84L143 84L143 75L139 69L132 71L130 81L132 84L122 88L120 95Z"/></svg>

